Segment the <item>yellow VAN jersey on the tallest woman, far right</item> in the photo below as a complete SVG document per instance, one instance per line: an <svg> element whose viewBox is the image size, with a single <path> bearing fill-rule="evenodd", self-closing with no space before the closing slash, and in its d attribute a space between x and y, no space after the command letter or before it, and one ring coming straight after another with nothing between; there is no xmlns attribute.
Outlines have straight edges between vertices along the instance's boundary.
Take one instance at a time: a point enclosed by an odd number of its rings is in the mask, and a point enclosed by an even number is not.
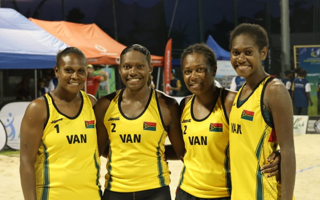
<svg viewBox="0 0 320 200"><path fill-rule="evenodd" d="M247 99L240 101L242 88L233 103L230 122L230 160L232 172L232 200L279 200L281 185L276 177L261 174L261 166L276 150L272 116L263 104L266 85L272 78L267 76ZM244 84L245 85L245 84ZM273 132L273 133L271 133Z"/></svg>

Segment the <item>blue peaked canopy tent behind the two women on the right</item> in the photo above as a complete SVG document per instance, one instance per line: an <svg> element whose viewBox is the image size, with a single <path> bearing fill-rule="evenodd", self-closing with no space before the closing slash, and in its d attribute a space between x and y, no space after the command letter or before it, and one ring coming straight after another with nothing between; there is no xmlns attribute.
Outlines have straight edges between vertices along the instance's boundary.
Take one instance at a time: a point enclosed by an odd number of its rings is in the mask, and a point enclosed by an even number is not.
<svg viewBox="0 0 320 200"><path fill-rule="evenodd" d="M208 36L207 42L205 44L214 51L217 60L230 60L230 52L220 47L211 35ZM172 66L180 66L180 62L180 59L172 59Z"/></svg>

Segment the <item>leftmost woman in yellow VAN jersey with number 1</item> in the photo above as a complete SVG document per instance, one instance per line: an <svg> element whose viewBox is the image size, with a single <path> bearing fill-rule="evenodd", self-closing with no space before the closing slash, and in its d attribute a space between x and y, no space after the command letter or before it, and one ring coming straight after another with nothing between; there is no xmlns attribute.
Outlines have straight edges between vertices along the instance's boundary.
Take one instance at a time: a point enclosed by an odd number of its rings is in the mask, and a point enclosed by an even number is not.
<svg viewBox="0 0 320 200"><path fill-rule="evenodd" d="M33 100L22 119L20 178L24 199L100 200L95 97L81 91L87 78L83 52L68 47L54 67L58 86Z"/></svg>

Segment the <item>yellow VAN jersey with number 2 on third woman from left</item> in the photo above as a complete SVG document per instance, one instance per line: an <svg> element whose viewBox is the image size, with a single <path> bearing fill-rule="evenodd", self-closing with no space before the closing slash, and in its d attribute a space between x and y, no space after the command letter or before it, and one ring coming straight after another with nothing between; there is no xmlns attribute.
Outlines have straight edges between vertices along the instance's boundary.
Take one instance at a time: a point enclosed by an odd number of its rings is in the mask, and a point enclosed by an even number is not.
<svg viewBox="0 0 320 200"><path fill-rule="evenodd" d="M181 116L186 154L179 186L199 198L228 197L231 194L229 160L229 124L222 91L204 119L193 114L195 95Z"/></svg>

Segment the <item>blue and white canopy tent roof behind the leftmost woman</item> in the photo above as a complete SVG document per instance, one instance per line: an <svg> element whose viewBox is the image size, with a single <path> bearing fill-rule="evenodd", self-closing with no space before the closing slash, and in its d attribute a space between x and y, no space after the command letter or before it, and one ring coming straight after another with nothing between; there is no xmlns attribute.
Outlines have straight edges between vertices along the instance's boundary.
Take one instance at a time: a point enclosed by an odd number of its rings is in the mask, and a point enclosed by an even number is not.
<svg viewBox="0 0 320 200"><path fill-rule="evenodd" d="M11 8L0 8L0 69L53 68L68 47Z"/></svg>

